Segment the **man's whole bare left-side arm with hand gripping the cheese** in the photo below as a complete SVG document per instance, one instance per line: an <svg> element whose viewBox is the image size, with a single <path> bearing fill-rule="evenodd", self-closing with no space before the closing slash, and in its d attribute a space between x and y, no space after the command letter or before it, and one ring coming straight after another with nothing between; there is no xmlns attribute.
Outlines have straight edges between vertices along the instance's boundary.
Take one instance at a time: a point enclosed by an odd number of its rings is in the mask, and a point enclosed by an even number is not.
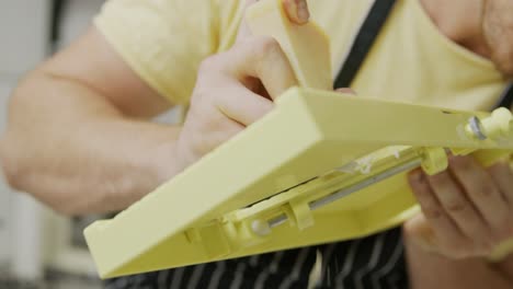
<svg viewBox="0 0 513 289"><path fill-rule="evenodd" d="M305 3L287 2L290 19ZM0 163L12 187L61 213L122 210L269 112L272 97L294 84L277 45L248 36L203 63L185 126L155 124L147 118L171 104L93 26L20 82Z"/></svg>

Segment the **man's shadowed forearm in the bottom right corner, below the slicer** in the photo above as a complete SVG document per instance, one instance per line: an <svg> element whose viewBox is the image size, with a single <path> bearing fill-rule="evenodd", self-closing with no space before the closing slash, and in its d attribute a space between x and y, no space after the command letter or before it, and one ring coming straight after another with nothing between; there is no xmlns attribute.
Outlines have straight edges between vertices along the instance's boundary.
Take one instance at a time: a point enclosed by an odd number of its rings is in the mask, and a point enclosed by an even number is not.
<svg viewBox="0 0 513 289"><path fill-rule="evenodd" d="M404 239L412 289L509 289L513 287L513 267L492 264L486 258L453 261L429 253ZM511 258L511 257L510 257ZM510 261L511 263L511 261ZM511 270L508 274L508 270Z"/></svg>

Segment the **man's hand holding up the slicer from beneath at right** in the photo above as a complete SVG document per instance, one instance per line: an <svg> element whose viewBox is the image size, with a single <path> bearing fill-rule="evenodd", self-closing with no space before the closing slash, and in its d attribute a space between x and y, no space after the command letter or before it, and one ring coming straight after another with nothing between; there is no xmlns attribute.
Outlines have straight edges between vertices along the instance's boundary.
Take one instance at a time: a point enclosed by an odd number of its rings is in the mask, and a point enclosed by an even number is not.
<svg viewBox="0 0 513 289"><path fill-rule="evenodd" d="M404 224L407 238L448 258L489 256L513 236L513 174L508 162L489 169L453 157L434 176L410 174L422 215Z"/></svg>

